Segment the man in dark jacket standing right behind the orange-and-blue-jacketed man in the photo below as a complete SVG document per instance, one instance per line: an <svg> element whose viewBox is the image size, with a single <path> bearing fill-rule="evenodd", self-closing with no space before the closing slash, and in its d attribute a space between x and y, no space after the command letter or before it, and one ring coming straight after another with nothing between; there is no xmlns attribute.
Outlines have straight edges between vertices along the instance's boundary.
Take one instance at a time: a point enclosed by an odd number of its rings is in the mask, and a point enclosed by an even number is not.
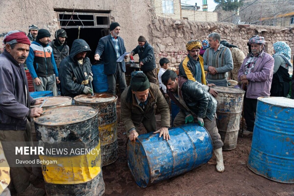
<svg viewBox="0 0 294 196"><path fill-rule="evenodd" d="M69 56L69 46L66 45L65 39L66 31L63 29L58 29L54 33L55 39L49 43L53 50L53 56L56 63L57 71L59 73L59 64L65 57ZM56 84L58 95L60 95L60 83Z"/></svg>

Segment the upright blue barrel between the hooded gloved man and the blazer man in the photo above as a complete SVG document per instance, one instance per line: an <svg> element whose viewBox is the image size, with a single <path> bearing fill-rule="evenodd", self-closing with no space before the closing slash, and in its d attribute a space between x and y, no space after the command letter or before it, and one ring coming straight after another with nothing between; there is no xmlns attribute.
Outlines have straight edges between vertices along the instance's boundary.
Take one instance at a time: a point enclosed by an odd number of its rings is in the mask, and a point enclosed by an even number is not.
<svg viewBox="0 0 294 196"><path fill-rule="evenodd" d="M107 76L104 74L104 64L92 65L94 92L106 92L108 90Z"/></svg>

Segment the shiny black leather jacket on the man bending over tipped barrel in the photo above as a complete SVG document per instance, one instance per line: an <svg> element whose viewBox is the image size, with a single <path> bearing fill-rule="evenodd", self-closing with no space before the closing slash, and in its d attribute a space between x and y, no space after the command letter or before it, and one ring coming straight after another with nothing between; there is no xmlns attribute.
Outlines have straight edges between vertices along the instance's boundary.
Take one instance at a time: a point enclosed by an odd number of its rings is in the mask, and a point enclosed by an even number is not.
<svg viewBox="0 0 294 196"><path fill-rule="evenodd" d="M201 87L202 84L197 81L188 80L185 76L178 76L178 85L180 89L179 96L186 103L186 106L190 110L189 112L200 118L208 117L208 119L213 120L216 114L217 101L209 92ZM181 109L186 110L174 97L173 93L168 91L168 94Z"/></svg>

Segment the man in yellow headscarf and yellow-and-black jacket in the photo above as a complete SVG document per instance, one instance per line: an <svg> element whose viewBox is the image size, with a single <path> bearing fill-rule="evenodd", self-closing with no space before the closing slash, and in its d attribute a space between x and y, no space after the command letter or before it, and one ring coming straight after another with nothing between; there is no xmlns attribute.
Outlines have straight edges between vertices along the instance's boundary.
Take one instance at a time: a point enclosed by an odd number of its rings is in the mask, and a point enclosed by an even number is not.
<svg viewBox="0 0 294 196"><path fill-rule="evenodd" d="M217 92L211 89L214 84L207 85L203 66L203 58L199 55L201 49L200 40L191 40L186 44L188 55L179 64L179 75L186 76L189 80L202 83L202 87L207 90L213 97L216 97Z"/></svg>

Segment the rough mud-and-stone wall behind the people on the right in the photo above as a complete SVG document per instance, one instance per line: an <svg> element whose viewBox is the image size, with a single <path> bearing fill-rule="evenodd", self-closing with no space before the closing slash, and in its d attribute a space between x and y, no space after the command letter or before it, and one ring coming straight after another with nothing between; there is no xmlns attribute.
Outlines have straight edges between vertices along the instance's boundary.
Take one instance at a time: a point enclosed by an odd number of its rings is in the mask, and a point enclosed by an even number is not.
<svg viewBox="0 0 294 196"><path fill-rule="evenodd" d="M178 28L175 23L183 23L183 28ZM243 28L242 28L243 27ZM245 54L248 53L248 39L259 34L266 40L266 51L273 54L273 43L276 41L285 41L292 49L294 54L294 29L285 29L285 27L248 25L237 26L232 23L220 22L195 22L195 21L176 21L157 17L149 25L150 43L154 48L156 64L159 67L159 60L166 57L170 60L171 67L178 68L178 64L186 57L186 43L191 39L207 39L212 32L220 34L221 39L226 39L229 43L237 45ZM259 33L259 32L260 33Z"/></svg>

